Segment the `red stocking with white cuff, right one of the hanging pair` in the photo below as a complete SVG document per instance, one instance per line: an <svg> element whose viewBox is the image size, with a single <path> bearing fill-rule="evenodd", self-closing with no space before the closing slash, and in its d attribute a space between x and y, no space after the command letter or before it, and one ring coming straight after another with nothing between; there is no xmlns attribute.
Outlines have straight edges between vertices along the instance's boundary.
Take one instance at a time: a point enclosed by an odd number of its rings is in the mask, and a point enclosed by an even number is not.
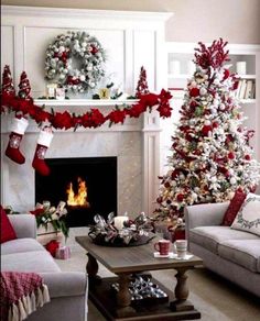
<svg viewBox="0 0 260 321"><path fill-rule="evenodd" d="M44 158L45 158L46 151L51 145L52 139L53 139L53 133L50 130L50 128L44 129L40 132L32 166L40 175L43 175L43 176L50 175L50 171L51 171Z"/></svg>

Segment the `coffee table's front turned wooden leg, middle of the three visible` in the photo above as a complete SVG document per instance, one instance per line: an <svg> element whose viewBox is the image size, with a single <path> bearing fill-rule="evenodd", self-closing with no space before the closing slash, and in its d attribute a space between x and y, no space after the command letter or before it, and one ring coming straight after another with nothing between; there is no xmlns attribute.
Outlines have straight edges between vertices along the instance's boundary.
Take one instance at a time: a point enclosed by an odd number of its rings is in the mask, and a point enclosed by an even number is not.
<svg viewBox="0 0 260 321"><path fill-rule="evenodd" d="M131 305L131 294L129 291L130 275L120 274L119 276L119 291L117 292L117 317L128 317L136 312L136 310L130 307Z"/></svg>

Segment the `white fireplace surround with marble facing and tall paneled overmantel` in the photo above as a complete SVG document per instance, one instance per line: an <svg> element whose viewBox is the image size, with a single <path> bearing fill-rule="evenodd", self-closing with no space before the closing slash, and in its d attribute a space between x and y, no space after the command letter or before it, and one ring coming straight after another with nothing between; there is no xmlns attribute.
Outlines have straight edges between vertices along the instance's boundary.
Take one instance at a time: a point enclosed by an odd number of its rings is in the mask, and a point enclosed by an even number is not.
<svg viewBox="0 0 260 321"><path fill-rule="evenodd" d="M48 43L68 30L85 30L97 36L106 49L107 74L113 74L113 82L124 92L134 93L140 68L144 66L149 89L159 92L166 88L166 52L164 51L164 24L172 15L167 12L123 12L105 10L71 10L2 5L1 15L1 69L10 65L14 85L25 70L32 87L32 96L46 93L44 79L44 53ZM136 101L35 100L46 110L75 111L98 107L105 114L115 104ZM39 136L39 128L30 125L21 143L26 162L18 165L6 157L11 115L1 119L1 202L15 210L30 210L35 204L34 169L32 159ZM160 175L160 118L158 112L147 112L139 119L127 119L124 124L98 129L78 129L54 133L47 150L47 158L105 157L118 158L118 212L151 214L159 192Z"/></svg>

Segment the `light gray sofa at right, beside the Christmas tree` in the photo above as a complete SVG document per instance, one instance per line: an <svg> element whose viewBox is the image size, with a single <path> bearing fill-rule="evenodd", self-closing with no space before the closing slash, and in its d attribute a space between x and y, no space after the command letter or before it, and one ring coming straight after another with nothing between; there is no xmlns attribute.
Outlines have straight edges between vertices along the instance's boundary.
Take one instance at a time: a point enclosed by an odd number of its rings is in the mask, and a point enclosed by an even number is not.
<svg viewBox="0 0 260 321"><path fill-rule="evenodd" d="M260 297L260 237L220 225L229 202L185 209L189 251L204 265Z"/></svg>

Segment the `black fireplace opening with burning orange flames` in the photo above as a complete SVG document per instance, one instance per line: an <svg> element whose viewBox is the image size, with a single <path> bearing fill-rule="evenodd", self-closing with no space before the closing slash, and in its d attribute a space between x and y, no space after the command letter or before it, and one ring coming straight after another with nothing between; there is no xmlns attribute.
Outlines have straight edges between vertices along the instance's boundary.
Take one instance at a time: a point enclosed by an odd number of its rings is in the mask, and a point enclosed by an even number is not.
<svg viewBox="0 0 260 321"><path fill-rule="evenodd" d="M95 214L117 215L117 157L47 158L50 176L35 173L35 201L66 201L69 228L94 223Z"/></svg>

